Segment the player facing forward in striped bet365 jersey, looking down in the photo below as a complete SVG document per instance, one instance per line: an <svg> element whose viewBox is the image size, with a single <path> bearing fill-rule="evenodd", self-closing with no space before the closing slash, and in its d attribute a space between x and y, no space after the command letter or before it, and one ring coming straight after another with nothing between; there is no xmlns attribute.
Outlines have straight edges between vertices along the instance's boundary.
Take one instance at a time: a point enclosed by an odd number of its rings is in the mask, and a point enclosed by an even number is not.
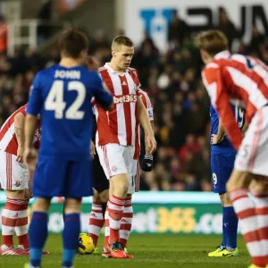
<svg viewBox="0 0 268 268"><path fill-rule="evenodd" d="M155 136L147 110L138 97L140 84L137 71L130 68L134 46L130 38L119 36L112 44L112 60L99 69L105 84L113 94L115 108L106 113L95 105L97 132L96 151L110 182L108 203L109 241L107 255L126 258L120 242L121 218L125 205L131 205L135 192L138 165L133 161L139 121L146 132L149 154L156 148ZM105 253L104 253L105 254Z"/></svg>

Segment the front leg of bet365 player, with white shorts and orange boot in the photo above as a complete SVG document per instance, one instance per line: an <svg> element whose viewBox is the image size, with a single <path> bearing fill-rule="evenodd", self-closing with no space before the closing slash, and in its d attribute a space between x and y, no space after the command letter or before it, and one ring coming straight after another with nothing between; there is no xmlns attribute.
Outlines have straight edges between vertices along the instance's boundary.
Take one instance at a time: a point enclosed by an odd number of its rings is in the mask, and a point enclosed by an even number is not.
<svg viewBox="0 0 268 268"><path fill-rule="evenodd" d="M113 257L125 258L127 256L119 243L121 217L129 188L128 172L123 157L125 147L118 144L107 144L103 147L96 147L96 150L106 177L110 178L108 202L110 236L109 243L105 246Z"/></svg>

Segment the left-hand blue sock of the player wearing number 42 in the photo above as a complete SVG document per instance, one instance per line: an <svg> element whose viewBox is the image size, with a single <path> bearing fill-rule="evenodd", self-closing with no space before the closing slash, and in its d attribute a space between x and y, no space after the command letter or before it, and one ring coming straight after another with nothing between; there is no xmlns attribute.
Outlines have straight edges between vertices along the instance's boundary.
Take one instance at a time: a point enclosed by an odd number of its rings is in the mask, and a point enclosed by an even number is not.
<svg viewBox="0 0 268 268"><path fill-rule="evenodd" d="M47 214L34 212L29 224L29 262L32 267L41 264L47 238Z"/></svg>

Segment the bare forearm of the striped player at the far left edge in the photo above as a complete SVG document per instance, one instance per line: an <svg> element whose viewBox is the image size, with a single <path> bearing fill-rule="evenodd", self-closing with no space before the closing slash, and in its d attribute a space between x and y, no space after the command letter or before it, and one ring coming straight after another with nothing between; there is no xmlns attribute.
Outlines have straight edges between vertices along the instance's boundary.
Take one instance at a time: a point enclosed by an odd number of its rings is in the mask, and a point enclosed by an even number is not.
<svg viewBox="0 0 268 268"><path fill-rule="evenodd" d="M24 121L25 115L23 113L17 113L14 117L14 130L18 141L17 150L17 162L23 162L23 151L24 151Z"/></svg>

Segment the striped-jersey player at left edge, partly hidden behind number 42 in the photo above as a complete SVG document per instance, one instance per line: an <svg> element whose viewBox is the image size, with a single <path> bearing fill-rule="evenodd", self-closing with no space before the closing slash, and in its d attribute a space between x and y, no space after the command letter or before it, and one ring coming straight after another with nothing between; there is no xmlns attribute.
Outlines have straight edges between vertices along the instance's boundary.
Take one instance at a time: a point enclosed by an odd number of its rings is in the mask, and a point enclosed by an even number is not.
<svg viewBox="0 0 268 268"><path fill-rule="evenodd" d="M7 201L2 213L2 246L0 255L28 255L29 185L28 171L23 163L24 119L23 105L4 122L0 130L0 182ZM39 147L40 129L36 131L35 147ZM19 249L13 249L13 231Z"/></svg>

